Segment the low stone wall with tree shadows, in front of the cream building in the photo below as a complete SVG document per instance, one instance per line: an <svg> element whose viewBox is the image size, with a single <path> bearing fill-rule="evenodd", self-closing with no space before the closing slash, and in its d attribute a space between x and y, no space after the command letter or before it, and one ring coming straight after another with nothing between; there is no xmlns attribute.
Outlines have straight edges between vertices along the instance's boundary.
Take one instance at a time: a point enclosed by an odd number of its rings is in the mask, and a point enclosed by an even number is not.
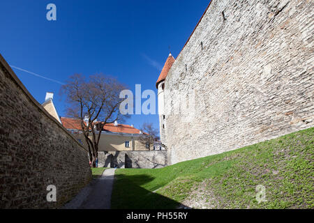
<svg viewBox="0 0 314 223"><path fill-rule="evenodd" d="M167 151L98 152L98 167L155 169L167 166Z"/></svg>

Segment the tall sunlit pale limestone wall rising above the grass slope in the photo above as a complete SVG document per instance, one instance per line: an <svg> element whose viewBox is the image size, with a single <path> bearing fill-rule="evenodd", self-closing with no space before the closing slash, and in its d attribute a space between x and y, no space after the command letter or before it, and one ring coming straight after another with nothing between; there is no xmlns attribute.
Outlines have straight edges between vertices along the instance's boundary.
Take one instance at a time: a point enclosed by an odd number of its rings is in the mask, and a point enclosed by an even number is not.
<svg viewBox="0 0 314 223"><path fill-rule="evenodd" d="M313 8L211 1L165 79L170 164L314 126Z"/></svg>

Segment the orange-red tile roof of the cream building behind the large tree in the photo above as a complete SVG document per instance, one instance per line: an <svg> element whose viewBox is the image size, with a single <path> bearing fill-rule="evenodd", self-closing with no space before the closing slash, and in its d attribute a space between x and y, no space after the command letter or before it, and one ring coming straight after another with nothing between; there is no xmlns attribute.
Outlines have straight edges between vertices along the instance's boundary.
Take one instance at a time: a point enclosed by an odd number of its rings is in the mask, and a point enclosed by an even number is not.
<svg viewBox="0 0 314 223"><path fill-rule="evenodd" d="M82 130L80 119L66 118L66 117L61 117L60 119L64 128L70 129L70 130ZM124 124L118 124L117 126L114 126L114 123L107 123L103 127L103 130L105 130L105 132L140 134L140 130L138 130L137 128L134 128L130 125L124 125Z"/></svg>

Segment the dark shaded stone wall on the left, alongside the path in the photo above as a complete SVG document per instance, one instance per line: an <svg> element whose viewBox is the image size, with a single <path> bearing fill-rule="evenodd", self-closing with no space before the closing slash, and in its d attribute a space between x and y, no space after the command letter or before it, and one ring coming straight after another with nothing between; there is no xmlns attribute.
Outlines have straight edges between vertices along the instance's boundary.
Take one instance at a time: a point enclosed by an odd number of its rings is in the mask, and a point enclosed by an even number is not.
<svg viewBox="0 0 314 223"><path fill-rule="evenodd" d="M0 208L59 208L91 180L88 151L0 55ZM57 201L48 202L48 185Z"/></svg>

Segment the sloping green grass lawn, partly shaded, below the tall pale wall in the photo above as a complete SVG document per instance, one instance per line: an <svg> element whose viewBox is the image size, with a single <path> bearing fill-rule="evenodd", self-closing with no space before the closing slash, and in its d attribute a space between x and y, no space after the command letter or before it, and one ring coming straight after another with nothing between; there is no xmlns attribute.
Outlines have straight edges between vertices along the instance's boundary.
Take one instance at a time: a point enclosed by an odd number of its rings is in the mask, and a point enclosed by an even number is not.
<svg viewBox="0 0 314 223"><path fill-rule="evenodd" d="M314 208L313 138L309 128L161 169L117 169L112 208Z"/></svg>

